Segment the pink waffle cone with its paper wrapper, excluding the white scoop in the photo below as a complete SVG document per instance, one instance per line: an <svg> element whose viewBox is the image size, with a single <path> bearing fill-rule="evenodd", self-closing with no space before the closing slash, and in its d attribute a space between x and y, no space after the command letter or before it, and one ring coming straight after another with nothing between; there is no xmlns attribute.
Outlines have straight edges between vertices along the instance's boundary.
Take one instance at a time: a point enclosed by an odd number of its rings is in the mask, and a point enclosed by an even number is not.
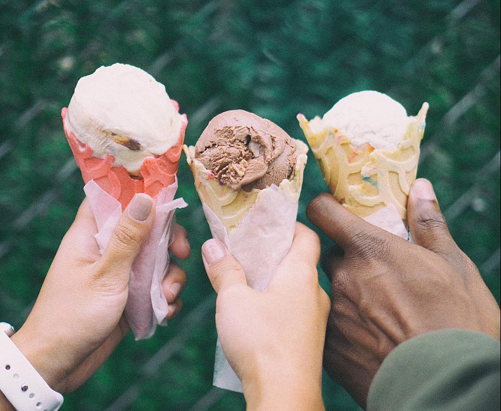
<svg viewBox="0 0 501 411"><path fill-rule="evenodd" d="M176 111L177 103L172 100ZM176 172L188 123L181 116L178 143L157 158L147 158L141 166L141 179L131 178L124 167L115 167L111 155L93 157L93 150L80 142L67 121L67 109L61 111L66 138L84 180L84 191L98 227L96 240L102 253L122 211L135 193L145 192L155 201L156 214L146 242L132 265L125 316L136 340L149 338L157 325L164 325L167 300L161 284L169 267L168 246L176 208L186 207L183 199L174 200Z"/></svg>

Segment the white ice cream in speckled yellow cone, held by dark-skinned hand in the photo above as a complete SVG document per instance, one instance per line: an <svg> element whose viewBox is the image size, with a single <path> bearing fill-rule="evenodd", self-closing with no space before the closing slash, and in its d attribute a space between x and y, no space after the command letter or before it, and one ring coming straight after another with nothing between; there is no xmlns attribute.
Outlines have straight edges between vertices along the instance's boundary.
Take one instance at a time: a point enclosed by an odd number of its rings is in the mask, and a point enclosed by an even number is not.
<svg viewBox="0 0 501 411"><path fill-rule="evenodd" d="M416 116L375 91L339 100L321 119L298 120L335 199L407 239L407 196L416 180L428 103Z"/></svg>

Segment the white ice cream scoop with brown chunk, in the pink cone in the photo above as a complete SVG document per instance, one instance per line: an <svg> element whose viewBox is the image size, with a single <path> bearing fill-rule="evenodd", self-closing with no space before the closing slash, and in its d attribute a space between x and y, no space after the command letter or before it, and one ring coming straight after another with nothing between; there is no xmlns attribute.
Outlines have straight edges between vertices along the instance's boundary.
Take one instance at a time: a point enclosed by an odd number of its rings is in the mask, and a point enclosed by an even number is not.
<svg viewBox="0 0 501 411"><path fill-rule="evenodd" d="M145 71L119 63L78 81L67 121L93 156L110 154L113 166L124 166L131 175L139 175L144 159L174 146L181 128L165 86Z"/></svg>

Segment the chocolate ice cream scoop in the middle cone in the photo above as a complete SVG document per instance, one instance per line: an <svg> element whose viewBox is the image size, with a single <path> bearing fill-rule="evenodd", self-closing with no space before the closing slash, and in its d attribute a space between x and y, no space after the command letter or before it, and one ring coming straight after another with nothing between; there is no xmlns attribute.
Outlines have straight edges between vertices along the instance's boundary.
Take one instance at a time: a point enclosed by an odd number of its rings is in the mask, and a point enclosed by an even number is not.
<svg viewBox="0 0 501 411"><path fill-rule="evenodd" d="M294 140L277 124L244 110L218 114L195 145L195 158L234 190L263 189L289 179Z"/></svg>

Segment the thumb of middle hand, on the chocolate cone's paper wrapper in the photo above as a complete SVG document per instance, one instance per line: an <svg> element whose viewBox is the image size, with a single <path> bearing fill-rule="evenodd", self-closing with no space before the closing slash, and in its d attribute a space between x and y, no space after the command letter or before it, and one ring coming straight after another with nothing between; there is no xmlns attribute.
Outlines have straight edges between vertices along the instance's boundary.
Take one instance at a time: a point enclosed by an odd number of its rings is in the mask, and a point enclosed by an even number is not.
<svg viewBox="0 0 501 411"><path fill-rule="evenodd" d="M202 260L216 293L235 285L247 285L242 267L219 240L203 243Z"/></svg>

